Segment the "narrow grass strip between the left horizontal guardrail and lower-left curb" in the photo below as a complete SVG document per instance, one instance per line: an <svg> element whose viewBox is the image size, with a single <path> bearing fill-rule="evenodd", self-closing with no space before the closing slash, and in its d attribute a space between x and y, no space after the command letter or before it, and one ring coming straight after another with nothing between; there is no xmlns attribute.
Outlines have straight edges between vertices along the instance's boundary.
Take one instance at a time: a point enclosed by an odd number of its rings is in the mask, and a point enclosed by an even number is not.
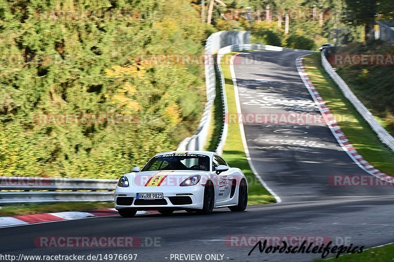
<svg viewBox="0 0 394 262"><path fill-rule="evenodd" d="M53 213L75 210L89 210L100 208L113 208L114 203L56 203L56 204L26 204L2 206L0 216L30 215L38 213Z"/></svg>

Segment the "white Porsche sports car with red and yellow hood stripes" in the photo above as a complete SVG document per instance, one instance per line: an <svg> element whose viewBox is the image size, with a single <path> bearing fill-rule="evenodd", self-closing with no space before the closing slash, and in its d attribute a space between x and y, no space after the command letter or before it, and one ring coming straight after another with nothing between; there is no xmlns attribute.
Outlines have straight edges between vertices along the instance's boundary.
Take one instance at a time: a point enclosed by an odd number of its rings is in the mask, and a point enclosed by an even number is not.
<svg viewBox="0 0 394 262"><path fill-rule="evenodd" d="M230 168L218 154L207 151L164 152L140 170L122 175L115 190L115 208L123 217L138 210L212 213L213 208L243 211L248 184L239 168Z"/></svg>

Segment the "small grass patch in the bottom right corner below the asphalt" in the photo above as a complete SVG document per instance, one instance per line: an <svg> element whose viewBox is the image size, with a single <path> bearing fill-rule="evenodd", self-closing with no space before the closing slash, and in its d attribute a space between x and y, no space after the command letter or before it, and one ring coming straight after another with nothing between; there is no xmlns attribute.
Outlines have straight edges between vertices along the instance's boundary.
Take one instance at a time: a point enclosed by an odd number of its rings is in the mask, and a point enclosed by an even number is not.
<svg viewBox="0 0 394 262"><path fill-rule="evenodd" d="M394 260L394 244L370 248L364 250L361 254L347 254L340 256L339 258L330 258L326 260L316 260L318 261L335 261L335 262L380 262L380 261L392 261Z"/></svg>

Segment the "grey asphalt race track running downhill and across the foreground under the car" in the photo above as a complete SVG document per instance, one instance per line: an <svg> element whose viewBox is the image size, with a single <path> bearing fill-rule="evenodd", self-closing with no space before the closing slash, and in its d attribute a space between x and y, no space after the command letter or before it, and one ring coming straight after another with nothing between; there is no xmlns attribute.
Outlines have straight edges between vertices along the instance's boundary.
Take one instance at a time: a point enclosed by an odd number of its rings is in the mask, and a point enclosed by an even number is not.
<svg viewBox="0 0 394 262"><path fill-rule="evenodd" d="M300 79L300 51L249 52L234 65L242 113L318 113ZM250 63L250 61L253 61ZM231 113L231 112L230 112ZM265 254L237 247L231 236L321 236L372 247L394 240L392 186L332 186L332 175L366 175L325 124L245 124L253 165L281 204L219 209L208 216L98 217L0 229L0 253L24 255L138 254L136 261L175 261L171 254L222 254L224 261L313 261L319 254ZM39 236L160 237L160 246L41 248ZM150 238L148 238L150 239ZM346 244L346 243L345 243ZM220 256L219 256L220 258ZM203 259L202 261L205 261Z"/></svg>

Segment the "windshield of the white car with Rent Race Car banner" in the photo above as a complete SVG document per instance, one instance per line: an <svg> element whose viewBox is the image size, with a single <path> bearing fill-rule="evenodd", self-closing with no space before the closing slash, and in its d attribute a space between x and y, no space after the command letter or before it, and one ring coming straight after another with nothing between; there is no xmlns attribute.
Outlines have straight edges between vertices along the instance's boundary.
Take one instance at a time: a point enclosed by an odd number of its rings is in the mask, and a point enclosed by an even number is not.
<svg viewBox="0 0 394 262"><path fill-rule="evenodd" d="M209 156L200 154L168 154L155 156L141 171L197 170L209 171Z"/></svg>

